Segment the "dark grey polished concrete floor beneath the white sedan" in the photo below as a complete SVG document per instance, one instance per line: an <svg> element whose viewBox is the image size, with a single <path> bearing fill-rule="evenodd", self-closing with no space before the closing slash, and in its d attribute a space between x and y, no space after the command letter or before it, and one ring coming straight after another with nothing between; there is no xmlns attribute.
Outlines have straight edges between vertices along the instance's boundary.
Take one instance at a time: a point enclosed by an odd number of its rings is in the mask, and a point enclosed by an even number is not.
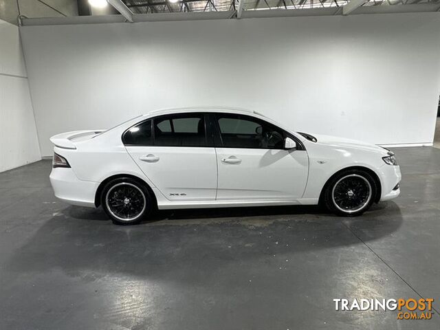
<svg viewBox="0 0 440 330"><path fill-rule="evenodd" d="M41 161L0 174L0 329L439 329L440 149L397 148L401 196L161 212L123 227L68 206ZM432 320L333 298L434 298Z"/></svg>

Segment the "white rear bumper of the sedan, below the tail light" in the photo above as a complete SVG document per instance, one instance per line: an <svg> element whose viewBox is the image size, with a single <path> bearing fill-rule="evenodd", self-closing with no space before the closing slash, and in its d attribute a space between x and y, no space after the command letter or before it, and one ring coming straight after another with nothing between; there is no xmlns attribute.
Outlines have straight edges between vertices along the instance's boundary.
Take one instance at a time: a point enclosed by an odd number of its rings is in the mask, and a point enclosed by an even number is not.
<svg viewBox="0 0 440 330"><path fill-rule="evenodd" d="M99 182L78 179L72 168L52 168L50 184L58 199L72 205L95 207L95 192Z"/></svg>

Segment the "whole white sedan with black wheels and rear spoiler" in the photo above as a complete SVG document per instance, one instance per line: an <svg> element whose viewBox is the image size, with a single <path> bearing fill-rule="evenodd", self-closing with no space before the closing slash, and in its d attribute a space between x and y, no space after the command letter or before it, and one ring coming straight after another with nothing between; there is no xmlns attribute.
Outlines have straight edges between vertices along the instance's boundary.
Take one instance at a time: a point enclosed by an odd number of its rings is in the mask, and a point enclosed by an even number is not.
<svg viewBox="0 0 440 330"><path fill-rule="evenodd" d="M362 214L400 193L385 148L292 131L237 109L170 109L107 131L54 135L56 197L102 206L114 223L154 210L313 205Z"/></svg>

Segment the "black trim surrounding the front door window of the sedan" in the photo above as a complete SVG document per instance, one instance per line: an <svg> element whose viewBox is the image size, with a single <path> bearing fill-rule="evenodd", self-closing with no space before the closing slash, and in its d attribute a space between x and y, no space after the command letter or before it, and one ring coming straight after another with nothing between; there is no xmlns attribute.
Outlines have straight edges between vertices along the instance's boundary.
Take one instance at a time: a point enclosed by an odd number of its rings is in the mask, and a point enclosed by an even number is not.
<svg viewBox="0 0 440 330"><path fill-rule="evenodd" d="M221 137L221 129L219 126L219 118L221 118L222 116L234 116L234 117L240 117L240 118L244 118L250 121L256 121L256 122L261 122L262 124L267 124L270 126L274 126L276 127L276 129L279 129L281 132L283 132L283 139L285 139L286 137L290 137L292 140L294 140L296 142L296 144L298 145L298 148L296 148L296 150L301 150L301 151L305 151L305 146L303 144L303 142L301 142L298 137L296 137L295 135L293 135L292 133L287 132L285 129L282 129L281 127L277 126L276 124L272 124L272 122L267 122L266 120L263 120L261 118L258 117L254 117L252 115L247 115L247 114L242 114L242 113L228 113L228 112L215 112L212 113L212 116L210 118L210 120L212 120L214 122L213 126L215 131L217 132L215 135L218 135L217 139L214 139L215 143L215 147L216 148L228 148L228 149L261 149L261 150L288 150L285 148L251 148L251 147L245 147L245 146L223 146L223 138Z"/></svg>

